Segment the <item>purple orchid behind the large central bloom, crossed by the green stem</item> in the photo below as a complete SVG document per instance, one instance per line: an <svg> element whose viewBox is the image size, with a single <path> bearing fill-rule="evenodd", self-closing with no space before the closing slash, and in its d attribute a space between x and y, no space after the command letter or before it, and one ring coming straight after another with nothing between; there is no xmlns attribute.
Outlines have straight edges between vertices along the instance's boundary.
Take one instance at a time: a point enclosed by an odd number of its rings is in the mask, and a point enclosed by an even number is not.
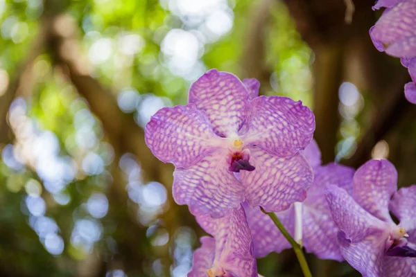
<svg viewBox="0 0 416 277"><path fill-rule="evenodd" d="M354 169L336 163L321 166L320 150L315 141L311 141L303 154L315 174L308 195L302 202L303 245L306 251L315 253L319 258L343 260L336 237L338 228L332 220L331 211L324 196L324 188L333 184L350 192ZM245 205L245 212L253 235L256 258L266 256L272 251L281 252L291 248L291 244L280 233L270 217L261 213L258 207L250 208ZM295 214L294 205L286 211L276 213L291 235L295 235L295 218L297 217Z"/></svg>

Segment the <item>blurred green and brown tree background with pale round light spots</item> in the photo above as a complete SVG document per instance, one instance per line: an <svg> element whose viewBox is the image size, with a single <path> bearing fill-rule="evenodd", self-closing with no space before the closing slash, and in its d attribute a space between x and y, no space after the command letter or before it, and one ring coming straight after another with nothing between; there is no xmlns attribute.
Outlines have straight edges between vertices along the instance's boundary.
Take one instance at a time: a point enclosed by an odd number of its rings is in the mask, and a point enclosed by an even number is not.
<svg viewBox="0 0 416 277"><path fill-rule="evenodd" d="M325 163L388 157L416 183L408 73L370 41L374 0L354 4L0 0L0 276L186 276L204 233L143 128L211 68L311 107ZM258 265L301 276L291 250Z"/></svg>

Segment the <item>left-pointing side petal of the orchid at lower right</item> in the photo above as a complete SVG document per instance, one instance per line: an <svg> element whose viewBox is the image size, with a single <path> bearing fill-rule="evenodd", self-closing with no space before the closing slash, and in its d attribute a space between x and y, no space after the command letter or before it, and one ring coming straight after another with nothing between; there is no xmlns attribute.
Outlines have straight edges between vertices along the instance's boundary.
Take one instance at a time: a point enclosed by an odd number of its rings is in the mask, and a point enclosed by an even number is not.
<svg viewBox="0 0 416 277"><path fill-rule="evenodd" d="M358 243L376 231L388 230L388 223L361 208L343 188L327 186L325 196L333 221L345 233L345 239Z"/></svg>

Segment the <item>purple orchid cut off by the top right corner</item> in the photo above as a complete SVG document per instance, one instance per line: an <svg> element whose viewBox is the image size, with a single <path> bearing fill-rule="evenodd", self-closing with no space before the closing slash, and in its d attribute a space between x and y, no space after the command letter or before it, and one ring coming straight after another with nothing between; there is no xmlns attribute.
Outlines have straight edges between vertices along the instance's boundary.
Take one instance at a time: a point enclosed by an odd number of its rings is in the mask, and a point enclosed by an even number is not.
<svg viewBox="0 0 416 277"><path fill-rule="evenodd" d="M370 37L379 51L400 57L413 82L405 87L405 96L416 104L416 0L380 0L374 8L387 7L370 28Z"/></svg>

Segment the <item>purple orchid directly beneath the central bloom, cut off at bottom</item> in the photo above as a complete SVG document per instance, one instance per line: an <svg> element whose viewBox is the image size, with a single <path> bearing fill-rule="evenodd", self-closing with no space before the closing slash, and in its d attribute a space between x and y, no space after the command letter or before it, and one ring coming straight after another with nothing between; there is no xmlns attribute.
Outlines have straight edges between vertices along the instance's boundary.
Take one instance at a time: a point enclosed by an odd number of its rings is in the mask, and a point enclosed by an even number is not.
<svg viewBox="0 0 416 277"><path fill-rule="evenodd" d="M244 209L214 219L210 215L196 215L196 220L214 238L202 237L202 247L193 253L189 277L257 277L253 243Z"/></svg>

